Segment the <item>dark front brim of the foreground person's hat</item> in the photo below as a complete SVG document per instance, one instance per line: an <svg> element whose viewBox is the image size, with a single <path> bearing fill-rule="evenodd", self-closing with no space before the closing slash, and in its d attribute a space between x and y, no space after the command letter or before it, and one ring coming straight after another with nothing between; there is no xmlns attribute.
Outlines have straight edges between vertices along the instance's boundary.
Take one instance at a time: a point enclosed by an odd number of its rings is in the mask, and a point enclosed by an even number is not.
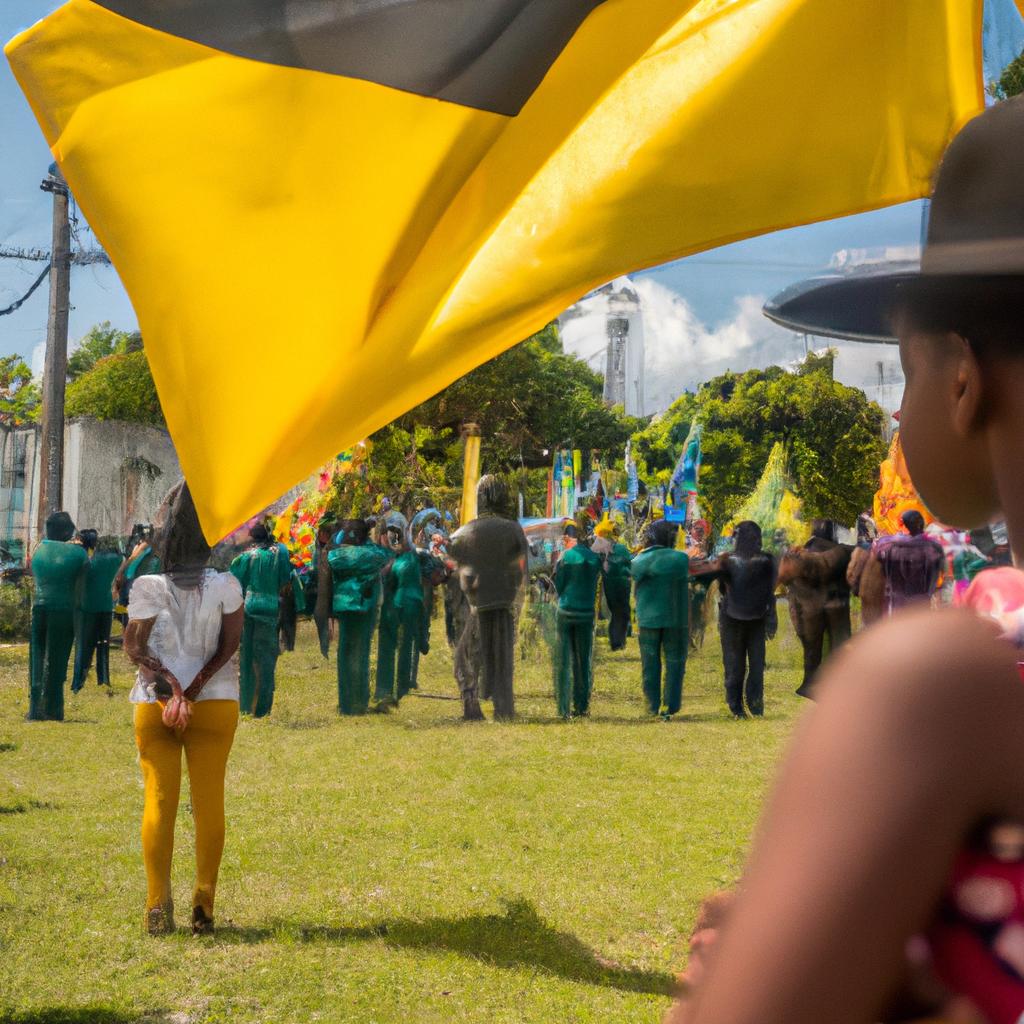
<svg viewBox="0 0 1024 1024"><path fill-rule="evenodd" d="M798 334L895 345L890 313L897 290L921 278L910 260L836 271L792 285L762 311Z"/></svg>

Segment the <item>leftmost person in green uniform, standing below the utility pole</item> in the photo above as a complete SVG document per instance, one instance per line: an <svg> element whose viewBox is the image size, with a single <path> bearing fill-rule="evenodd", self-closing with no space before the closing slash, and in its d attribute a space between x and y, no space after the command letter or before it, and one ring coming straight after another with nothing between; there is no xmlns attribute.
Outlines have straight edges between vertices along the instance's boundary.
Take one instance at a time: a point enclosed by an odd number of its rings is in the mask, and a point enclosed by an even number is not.
<svg viewBox="0 0 1024 1024"><path fill-rule="evenodd" d="M67 512L46 518L46 539L32 556L35 582L29 645L29 720L63 721L63 684L75 642L75 597L89 556L70 544L75 523Z"/></svg>

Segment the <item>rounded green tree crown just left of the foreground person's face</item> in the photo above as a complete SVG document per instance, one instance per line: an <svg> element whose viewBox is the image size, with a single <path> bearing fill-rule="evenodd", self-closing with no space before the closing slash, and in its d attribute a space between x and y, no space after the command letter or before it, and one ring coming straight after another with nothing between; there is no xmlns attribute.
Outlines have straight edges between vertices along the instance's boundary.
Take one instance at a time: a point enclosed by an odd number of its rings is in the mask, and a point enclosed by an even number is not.
<svg viewBox="0 0 1024 1024"><path fill-rule="evenodd" d="M726 373L684 394L634 438L641 478L668 482L694 417L705 426L700 500L716 527L757 485L776 441L788 453L805 518L853 523L870 506L886 454L884 414L833 379L829 353L809 356L795 374Z"/></svg>

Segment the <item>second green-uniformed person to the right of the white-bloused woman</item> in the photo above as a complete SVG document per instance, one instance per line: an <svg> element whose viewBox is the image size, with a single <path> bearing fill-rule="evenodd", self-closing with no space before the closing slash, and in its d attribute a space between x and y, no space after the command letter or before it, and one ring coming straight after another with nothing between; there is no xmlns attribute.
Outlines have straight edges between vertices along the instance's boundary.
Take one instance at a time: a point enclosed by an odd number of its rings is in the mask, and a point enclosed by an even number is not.
<svg viewBox="0 0 1024 1024"><path fill-rule="evenodd" d="M362 519L343 519L327 554L331 613L338 622L338 714L362 715L370 706L370 647L381 598L381 571L390 555L370 541Z"/></svg>

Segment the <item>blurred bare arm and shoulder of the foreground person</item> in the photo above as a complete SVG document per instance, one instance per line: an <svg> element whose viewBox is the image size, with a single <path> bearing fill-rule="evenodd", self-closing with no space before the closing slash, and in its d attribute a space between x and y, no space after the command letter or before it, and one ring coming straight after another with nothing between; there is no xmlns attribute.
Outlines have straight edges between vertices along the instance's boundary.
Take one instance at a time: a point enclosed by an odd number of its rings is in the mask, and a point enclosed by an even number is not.
<svg viewBox="0 0 1024 1024"><path fill-rule="evenodd" d="M973 825L1024 821L1016 651L956 611L836 655L762 821L687 1024L867 1024Z"/></svg>

